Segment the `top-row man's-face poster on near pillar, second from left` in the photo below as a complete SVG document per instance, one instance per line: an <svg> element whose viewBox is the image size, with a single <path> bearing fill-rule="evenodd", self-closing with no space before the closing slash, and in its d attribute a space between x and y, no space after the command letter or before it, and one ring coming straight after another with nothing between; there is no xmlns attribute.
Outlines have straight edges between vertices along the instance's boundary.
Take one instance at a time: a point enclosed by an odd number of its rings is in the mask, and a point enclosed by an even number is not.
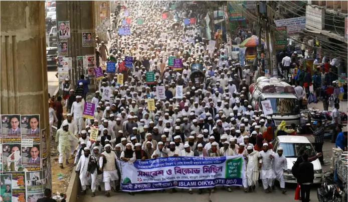
<svg viewBox="0 0 348 202"><path fill-rule="evenodd" d="M40 144L40 115L22 115L21 118L22 140L30 139L33 144Z"/></svg>

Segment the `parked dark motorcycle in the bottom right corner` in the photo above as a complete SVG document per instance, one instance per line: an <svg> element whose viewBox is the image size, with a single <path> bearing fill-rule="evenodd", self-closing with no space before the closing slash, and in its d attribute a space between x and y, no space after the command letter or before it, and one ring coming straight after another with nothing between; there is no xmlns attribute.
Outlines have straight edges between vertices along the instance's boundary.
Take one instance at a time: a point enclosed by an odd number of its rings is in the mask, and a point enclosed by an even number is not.
<svg viewBox="0 0 348 202"><path fill-rule="evenodd" d="M319 202L342 202L343 191L333 180L333 174L326 172L323 175L321 187L316 191L316 195Z"/></svg>

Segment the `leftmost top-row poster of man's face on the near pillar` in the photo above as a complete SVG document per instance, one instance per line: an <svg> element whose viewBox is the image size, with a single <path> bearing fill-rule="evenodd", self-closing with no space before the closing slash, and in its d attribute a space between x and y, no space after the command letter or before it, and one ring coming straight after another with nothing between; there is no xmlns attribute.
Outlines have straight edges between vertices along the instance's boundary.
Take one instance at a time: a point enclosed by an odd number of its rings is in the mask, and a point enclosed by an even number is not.
<svg viewBox="0 0 348 202"><path fill-rule="evenodd" d="M3 143L21 143L21 115L1 115L1 120Z"/></svg>

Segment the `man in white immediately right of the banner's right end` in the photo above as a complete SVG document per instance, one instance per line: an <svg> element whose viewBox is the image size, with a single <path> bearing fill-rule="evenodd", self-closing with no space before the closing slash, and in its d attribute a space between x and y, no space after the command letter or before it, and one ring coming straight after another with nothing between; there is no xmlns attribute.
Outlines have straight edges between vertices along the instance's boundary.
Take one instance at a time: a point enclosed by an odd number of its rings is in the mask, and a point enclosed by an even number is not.
<svg viewBox="0 0 348 202"><path fill-rule="evenodd" d="M247 147L248 151L248 163L247 163L247 180L248 180L248 187L249 187L249 192L252 190L255 190L255 185L258 183L259 179L259 152L254 150L252 146Z"/></svg>

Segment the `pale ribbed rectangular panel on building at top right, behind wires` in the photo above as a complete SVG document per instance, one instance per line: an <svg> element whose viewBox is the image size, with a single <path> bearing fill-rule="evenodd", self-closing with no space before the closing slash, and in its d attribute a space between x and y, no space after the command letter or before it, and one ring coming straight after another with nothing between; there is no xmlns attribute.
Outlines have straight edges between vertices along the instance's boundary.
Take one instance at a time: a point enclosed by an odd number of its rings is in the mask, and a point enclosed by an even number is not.
<svg viewBox="0 0 348 202"><path fill-rule="evenodd" d="M312 5L306 6L306 26L310 26L319 30L323 30L325 19L325 9Z"/></svg>

